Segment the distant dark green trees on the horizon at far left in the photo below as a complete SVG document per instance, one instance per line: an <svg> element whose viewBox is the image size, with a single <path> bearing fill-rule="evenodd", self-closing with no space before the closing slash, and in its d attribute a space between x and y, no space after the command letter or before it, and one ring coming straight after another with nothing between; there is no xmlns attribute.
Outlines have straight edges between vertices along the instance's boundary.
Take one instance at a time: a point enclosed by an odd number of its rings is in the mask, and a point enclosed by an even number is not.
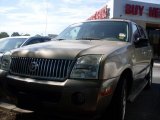
<svg viewBox="0 0 160 120"><path fill-rule="evenodd" d="M18 32L13 32L11 34L11 37L13 36L30 36L30 34L19 34ZM7 32L0 32L0 38L9 37L9 34Z"/></svg>

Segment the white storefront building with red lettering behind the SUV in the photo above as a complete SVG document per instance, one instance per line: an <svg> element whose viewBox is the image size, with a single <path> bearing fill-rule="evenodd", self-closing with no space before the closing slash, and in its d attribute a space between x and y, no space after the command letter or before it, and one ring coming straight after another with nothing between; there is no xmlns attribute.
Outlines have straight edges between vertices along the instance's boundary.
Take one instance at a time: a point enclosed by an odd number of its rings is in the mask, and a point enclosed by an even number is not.
<svg viewBox="0 0 160 120"><path fill-rule="evenodd" d="M159 4L131 1L106 0L107 3L88 20L129 19L143 26L149 36L154 56L160 57L160 2Z"/></svg>

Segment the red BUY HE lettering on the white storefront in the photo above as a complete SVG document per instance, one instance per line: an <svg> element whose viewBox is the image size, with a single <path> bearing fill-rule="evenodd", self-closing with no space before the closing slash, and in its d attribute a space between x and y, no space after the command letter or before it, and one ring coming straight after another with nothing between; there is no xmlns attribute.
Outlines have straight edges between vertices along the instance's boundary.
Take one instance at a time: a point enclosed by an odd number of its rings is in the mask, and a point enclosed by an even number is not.
<svg viewBox="0 0 160 120"><path fill-rule="evenodd" d="M125 14L142 16L144 14L144 9L145 7L142 5L126 4ZM149 17L160 18L160 8L149 7L147 10Z"/></svg>

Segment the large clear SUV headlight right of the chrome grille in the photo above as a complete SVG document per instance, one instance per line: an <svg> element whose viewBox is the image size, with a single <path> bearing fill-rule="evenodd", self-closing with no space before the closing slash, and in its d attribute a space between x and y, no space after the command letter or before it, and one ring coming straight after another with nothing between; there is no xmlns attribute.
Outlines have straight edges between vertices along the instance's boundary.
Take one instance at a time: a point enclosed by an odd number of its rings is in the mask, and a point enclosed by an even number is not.
<svg viewBox="0 0 160 120"><path fill-rule="evenodd" d="M77 59L70 78L98 79L99 63L102 55L85 55Z"/></svg>

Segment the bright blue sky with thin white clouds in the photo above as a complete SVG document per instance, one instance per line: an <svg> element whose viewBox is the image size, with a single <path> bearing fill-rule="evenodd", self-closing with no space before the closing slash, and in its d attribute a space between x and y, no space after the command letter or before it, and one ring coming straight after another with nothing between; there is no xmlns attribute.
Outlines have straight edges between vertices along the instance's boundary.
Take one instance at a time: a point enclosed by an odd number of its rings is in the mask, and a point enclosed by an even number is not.
<svg viewBox="0 0 160 120"><path fill-rule="evenodd" d="M159 3L160 0L136 0ZM59 34L86 20L107 0L0 0L0 32Z"/></svg>

